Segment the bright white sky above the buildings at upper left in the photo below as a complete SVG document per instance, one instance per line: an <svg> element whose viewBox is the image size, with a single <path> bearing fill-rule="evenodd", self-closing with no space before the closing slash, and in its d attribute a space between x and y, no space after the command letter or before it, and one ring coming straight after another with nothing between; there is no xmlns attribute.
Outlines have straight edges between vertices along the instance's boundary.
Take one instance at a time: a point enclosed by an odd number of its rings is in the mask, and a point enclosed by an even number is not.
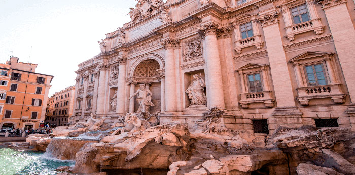
<svg viewBox="0 0 355 175"><path fill-rule="evenodd" d="M130 21L134 0L0 0L0 63L11 55L53 75L49 96L75 84L78 64L97 41ZM31 49L32 47L32 49ZM10 51L13 51L11 54Z"/></svg>

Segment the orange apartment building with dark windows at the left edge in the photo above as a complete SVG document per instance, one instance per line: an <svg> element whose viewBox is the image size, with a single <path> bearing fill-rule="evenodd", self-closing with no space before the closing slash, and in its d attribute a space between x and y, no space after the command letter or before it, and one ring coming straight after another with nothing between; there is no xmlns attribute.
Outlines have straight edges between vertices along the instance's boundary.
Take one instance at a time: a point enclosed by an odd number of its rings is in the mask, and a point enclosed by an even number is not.
<svg viewBox="0 0 355 175"><path fill-rule="evenodd" d="M0 128L37 129L44 123L53 76L35 68L17 57L0 64Z"/></svg>

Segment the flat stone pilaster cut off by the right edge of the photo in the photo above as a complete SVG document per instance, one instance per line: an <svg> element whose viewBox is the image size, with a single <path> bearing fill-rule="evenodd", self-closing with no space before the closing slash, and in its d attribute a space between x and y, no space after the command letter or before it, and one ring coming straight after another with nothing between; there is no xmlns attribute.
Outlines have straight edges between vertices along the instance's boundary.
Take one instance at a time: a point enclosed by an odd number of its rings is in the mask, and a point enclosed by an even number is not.
<svg viewBox="0 0 355 175"><path fill-rule="evenodd" d="M349 14L353 11L348 11L346 0L318 0L317 2L323 5L350 99L355 103L355 62L353 61L355 49L352 49L355 46L355 29Z"/></svg>

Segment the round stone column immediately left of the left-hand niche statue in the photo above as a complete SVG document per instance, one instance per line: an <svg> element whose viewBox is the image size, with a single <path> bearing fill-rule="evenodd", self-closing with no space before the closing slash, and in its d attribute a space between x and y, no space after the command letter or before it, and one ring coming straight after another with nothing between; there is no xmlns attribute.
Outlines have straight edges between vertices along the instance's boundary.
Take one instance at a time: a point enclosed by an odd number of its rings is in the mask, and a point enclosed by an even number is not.
<svg viewBox="0 0 355 175"><path fill-rule="evenodd" d="M109 68L106 64L101 64L99 66L100 77L99 77L99 85L98 85L98 93L97 93L97 115L103 115L105 108L105 92L106 92L106 73Z"/></svg>

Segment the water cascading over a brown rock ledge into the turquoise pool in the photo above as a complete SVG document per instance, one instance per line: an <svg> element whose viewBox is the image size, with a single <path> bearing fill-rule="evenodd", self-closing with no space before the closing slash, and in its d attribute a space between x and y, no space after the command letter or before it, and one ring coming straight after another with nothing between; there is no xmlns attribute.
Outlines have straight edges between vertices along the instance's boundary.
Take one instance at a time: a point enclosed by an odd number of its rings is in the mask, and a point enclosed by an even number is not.
<svg viewBox="0 0 355 175"><path fill-rule="evenodd" d="M45 155L61 160L75 160L77 152L86 143L99 142L108 132L87 132L78 137L54 137L49 143Z"/></svg>

